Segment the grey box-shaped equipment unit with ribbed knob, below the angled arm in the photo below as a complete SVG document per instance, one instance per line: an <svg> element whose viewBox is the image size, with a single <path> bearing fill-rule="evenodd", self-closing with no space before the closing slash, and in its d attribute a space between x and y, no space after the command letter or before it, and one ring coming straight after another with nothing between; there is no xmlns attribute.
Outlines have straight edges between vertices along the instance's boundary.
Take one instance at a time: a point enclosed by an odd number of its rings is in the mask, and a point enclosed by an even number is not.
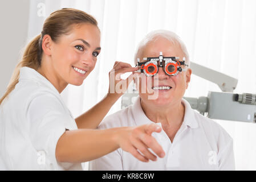
<svg viewBox="0 0 256 182"><path fill-rule="evenodd" d="M237 95L229 92L209 92L208 97L191 98L184 97L192 107L199 111L202 115L206 115L211 119L222 119L227 121L242 121L242 122L256 122L256 105L255 95L254 102L249 101L240 102L237 100ZM251 100L250 96L253 94L241 94L239 96L245 96L247 100ZM243 97L246 101L246 98ZM254 104L253 104L254 103Z"/></svg>

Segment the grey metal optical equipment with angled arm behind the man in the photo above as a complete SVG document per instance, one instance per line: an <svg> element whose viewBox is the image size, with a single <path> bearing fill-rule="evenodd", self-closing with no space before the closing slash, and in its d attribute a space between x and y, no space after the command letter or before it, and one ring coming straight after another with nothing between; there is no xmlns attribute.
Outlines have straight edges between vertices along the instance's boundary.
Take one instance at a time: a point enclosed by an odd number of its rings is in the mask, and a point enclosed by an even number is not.
<svg viewBox="0 0 256 182"><path fill-rule="evenodd" d="M237 79L192 62L190 68L194 75L216 83L222 90L222 92L209 92L207 97L184 97L192 109L212 119L256 122L256 94L234 94L232 92L237 86ZM133 104L138 95L135 92L125 93L121 108Z"/></svg>

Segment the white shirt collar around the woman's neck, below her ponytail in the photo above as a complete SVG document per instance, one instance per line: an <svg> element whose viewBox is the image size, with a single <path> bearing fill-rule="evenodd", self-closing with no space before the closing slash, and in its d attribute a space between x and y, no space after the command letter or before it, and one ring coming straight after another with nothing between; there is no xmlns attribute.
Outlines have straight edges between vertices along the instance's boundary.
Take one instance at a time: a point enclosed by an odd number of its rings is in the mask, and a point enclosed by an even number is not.
<svg viewBox="0 0 256 182"><path fill-rule="evenodd" d="M46 77L42 76L40 73L35 71L35 69L29 67L22 67L19 71L19 81L22 80L38 82L39 84L46 86L47 88L53 90L55 93L59 94L55 86L52 85L51 82L46 79Z"/></svg>

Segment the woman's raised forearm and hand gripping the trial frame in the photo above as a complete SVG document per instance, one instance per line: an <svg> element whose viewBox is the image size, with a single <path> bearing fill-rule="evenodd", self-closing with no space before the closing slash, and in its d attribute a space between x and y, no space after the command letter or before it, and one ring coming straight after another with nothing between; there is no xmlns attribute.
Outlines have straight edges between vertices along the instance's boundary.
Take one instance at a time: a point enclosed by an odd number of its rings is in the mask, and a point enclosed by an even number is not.
<svg viewBox="0 0 256 182"><path fill-rule="evenodd" d="M113 69L111 72L109 72L108 94L94 107L75 119L78 129L96 129L96 127L108 113L109 109L123 95L123 93L127 90L129 83L132 81L132 74L126 80L121 80L120 75L126 72L136 71L137 69L137 67L132 68L130 64L116 61ZM126 82L126 88L121 88L122 92L116 92L117 90L113 90L114 92L111 93L111 86L116 89L116 85L117 83L120 84L120 81Z"/></svg>

